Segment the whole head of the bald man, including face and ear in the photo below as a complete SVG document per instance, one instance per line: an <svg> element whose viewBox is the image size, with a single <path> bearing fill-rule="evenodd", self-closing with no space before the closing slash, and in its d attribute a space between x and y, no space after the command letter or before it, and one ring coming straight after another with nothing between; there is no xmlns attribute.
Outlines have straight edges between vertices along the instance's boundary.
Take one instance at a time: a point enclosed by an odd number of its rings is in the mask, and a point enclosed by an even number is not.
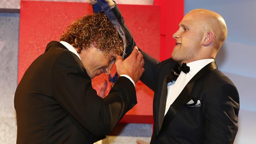
<svg viewBox="0 0 256 144"><path fill-rule="evenodd" d="M224 19L213 11L194 9L187 13L173 34L172 58L179 63L214 59L227 37Z"/></svg>

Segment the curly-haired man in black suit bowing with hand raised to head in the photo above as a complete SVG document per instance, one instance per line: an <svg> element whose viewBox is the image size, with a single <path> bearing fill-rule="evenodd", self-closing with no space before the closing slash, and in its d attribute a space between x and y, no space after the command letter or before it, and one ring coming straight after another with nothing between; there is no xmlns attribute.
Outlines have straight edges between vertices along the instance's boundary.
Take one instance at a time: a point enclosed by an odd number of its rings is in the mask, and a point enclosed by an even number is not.
<svg viewBox="0 0 256 144"><path fill-rule="evenodd" d="M122 60L124 44L106 15L79 18L26 70L15 92L17 144L92 144L136 103L143 56L136 48ZM91 79L120 77L102 99Z"/></svg>

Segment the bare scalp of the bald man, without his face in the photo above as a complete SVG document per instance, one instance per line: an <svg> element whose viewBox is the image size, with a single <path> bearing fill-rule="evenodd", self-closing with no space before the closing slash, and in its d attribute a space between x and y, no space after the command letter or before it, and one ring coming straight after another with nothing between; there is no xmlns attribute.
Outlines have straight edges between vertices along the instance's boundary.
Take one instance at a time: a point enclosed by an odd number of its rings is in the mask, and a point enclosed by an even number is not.
<svg viewBox="0 0 256 144"><path fill-rule="evenodd" d="M226 23L218 13L207 9L194 9L187 13L184 18L193 18L193 20L202 24L204 31L212 31L214 34L213 44L218 49L226 40L228 34Z"/></svg>

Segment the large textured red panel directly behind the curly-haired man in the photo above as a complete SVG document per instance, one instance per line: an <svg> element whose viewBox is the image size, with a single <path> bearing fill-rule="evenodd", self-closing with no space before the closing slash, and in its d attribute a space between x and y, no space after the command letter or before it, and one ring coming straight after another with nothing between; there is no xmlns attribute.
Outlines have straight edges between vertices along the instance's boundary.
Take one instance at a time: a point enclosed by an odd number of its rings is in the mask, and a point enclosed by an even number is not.
<svg viewBox="0 0 256 144"><path fill-rule="evenodd" d="M160 7L119 5L119 8L137 45L160 59ZM72 21L91 11L87 3L21 1L18 81L32 61L43 54L48 42L58 41ZM93 87L99 90L104 79L108 79L105 74L93 79ZM141 82L136 84L136 91L138 104L122 122L152 123L153 91Z"/></svg>

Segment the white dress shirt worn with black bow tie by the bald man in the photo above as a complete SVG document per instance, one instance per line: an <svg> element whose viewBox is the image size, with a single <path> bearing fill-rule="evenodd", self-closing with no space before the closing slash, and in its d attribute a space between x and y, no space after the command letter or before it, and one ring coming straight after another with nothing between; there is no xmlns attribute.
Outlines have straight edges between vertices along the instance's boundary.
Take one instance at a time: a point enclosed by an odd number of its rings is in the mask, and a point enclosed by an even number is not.
<svg viewBox="0 0 256 144"><path fill-rule="evenodd" d="M167 83L168 91L165 105L165 114L167 113L171 104L173 104L176 98L180 95L180 92L182 92L182 90L190 81L190 79L192 79L193 76L195 76L195 74L197 74L197 72L199 72L204 66L208 65L213 61L214 59L201 59L198 61L192 61L190 63L187 63L187 66L189 66L190 71L187 74L181 71L180 76L178 76L175 83Z"/></svg>

